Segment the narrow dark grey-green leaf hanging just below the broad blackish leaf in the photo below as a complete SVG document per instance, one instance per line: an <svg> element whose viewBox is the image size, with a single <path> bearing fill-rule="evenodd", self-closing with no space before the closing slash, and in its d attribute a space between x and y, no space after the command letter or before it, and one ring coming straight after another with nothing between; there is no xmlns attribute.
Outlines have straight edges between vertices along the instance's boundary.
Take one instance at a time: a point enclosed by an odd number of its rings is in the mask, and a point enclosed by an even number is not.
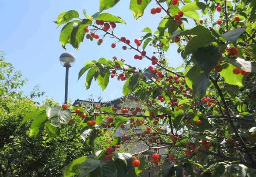
<svg viewBox="0 0 256 177"><path fill-rule="evenodd" d="M196 79L195 84L193 85L193 96L195 99L201 99L204 97L206 90L209 85L209 75L205 73L201 73L199 77Z"/></svg>

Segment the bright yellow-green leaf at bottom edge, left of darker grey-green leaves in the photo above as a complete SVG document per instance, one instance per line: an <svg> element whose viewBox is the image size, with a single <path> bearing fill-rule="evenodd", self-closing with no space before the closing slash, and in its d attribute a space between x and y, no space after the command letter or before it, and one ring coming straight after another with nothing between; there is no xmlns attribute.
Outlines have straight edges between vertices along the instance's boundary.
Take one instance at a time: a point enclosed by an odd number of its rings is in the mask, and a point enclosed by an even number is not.
<svg viewBox="0 0 256 177"><path fill-rule="evenodd" d="M74 176L76 173L79 172L79 165L86 160L88 157L84 156L84 157L80 157L78 159L75 159L74 161L72 161L71 163L69 163L67 166L65 166L62 174L64 177L71 177Z"/></svg>

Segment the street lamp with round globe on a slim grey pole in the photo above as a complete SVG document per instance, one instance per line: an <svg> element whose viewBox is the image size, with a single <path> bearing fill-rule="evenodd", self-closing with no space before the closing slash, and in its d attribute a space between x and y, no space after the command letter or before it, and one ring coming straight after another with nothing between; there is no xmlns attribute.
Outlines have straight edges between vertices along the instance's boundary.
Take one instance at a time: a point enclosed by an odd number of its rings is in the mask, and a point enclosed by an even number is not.
<svg viewBox="0 0 256 177"><path fill-rule="evenodd" d="M71 52L64 52L60 55L60 64L66 68L66 80L65 80L65 101L64 104L68 103L68 68L75 64L75 55Z"/></svg>

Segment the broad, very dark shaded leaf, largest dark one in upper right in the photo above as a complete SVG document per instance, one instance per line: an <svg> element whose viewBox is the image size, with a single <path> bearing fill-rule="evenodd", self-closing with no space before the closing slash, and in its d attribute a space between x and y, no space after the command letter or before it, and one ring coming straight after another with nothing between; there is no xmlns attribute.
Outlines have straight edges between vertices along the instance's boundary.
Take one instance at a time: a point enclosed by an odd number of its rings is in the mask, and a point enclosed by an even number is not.
<svg viewBox="0 0 256 177"><path fill-rule="evenodd" d="M222 54L218 46L207 46L197 49L192 56L193 63L206 74L208 74L217 65Z"/></svg>

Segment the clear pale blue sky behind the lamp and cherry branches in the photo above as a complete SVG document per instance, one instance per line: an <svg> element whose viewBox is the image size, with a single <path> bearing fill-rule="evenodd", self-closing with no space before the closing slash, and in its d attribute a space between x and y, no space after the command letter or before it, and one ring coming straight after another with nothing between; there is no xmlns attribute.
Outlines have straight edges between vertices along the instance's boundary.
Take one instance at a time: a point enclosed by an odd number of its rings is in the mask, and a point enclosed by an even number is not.
<svg viewBox="0 0 256 177"><path fill-rule="evenodd" d="M129 11L129 1L120 1L116 6L106 12L120 16L127 25L117 24L114 34L118 37L124 36L131 40L140 38L146 33L141 32L144 27L150 27L154 32L157 30L161 17L160 14L151 15L150 10L158 7L154 1L148 5L144 15L135 20L132 11ZM63 11L76 10L80 18L84 18L83 9L86 13L93 15L99 10L98 0L13 0L1 1L1 27L0 27L0 51L4 51L5 61L11 62L16 70L21 71L28 83L23 87L26 95L29 95L36 84L39 84L41 91L45 91L45 96L53 97L54 101L64 102L65 90L65 68L59 62L59 56L65 50L59 42L59 34L63 25L56 29L57 15ZM103 11L105 12L105 11ZM99 33L102 35L102 33ZM111 79L108 87L102 91L97 82L92 82L91 88L86 90L85 74L78 80L78 73L86 61L98 60L100 57L112 59L116 56L118 60L125 59L125 63L136 68L147 68L150 61L135 60L133 56L137 54L133 50L122 50L122 44L117 43L112 49L112 42L116 39L109 36L104 38L103 43L98 46L97 40L90 41L84 39L79 50L66 45L67 51L76 56L75 65L69 68L68 98L74 102L76 99L87 99L90 95L95 98L101 96L104 101L123 96L122 87L124 82ZM142 47L140 48L142 50ZM147 46L148 56L153 55L154 48ZM166 53L168 61L172 67L181 64L181 57L177 54L177 45L172 44ZM37 101L44 100L41 97Z"/></svg>

